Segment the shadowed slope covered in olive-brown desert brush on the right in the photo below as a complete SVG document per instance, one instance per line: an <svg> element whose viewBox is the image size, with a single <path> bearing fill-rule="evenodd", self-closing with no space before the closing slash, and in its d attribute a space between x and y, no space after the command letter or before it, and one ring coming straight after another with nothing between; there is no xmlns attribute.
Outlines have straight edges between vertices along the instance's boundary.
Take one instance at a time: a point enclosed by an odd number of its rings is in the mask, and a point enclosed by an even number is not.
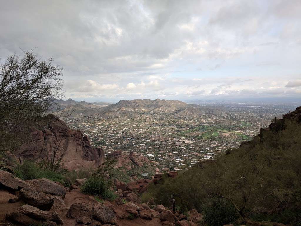
<svg viewBox="0 0 301 226"><path fill-rule="evenodd" d="M149 193L166 206L172 194L177 209L204 212L209 225L236 222L233 210L244 222L300 225L301 127L287 120L284 128L263 130L263 141L254 137L215 161L199 163L177 178L165 178Z"/></svg>

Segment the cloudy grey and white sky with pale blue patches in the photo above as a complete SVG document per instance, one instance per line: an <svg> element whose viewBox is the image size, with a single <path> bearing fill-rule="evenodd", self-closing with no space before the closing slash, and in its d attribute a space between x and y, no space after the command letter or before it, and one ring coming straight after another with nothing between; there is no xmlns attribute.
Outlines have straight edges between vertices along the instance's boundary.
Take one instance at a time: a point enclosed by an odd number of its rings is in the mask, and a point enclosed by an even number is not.
<svg viewBox="0 0 301 226"><path fill-rule="evenodd" d="M0 57L64 67L66 99L298 99L301 1L0 0Z"/></svg>

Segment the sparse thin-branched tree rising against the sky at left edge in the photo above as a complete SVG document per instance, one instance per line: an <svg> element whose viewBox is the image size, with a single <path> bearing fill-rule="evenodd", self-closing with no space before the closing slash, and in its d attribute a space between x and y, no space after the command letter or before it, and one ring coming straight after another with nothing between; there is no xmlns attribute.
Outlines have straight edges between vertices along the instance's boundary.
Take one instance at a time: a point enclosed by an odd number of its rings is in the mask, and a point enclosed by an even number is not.
<svg viewBox="0 0 301 226"><path fill-rule="evenodd" d="M29 135L29 127L53 112L54 98L62 98L62 67L53 58L43 61L32 51L23 58L1 61L0 151L14 151ZM58 109L58 108L57 108Z"/></svg>

